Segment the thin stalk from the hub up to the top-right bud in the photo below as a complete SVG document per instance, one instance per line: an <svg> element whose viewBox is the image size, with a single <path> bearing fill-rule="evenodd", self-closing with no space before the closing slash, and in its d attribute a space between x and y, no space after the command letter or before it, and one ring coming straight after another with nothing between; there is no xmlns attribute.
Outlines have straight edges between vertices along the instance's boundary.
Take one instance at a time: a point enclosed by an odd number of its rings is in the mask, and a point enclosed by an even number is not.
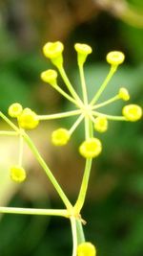
<svg viewBox="0 0 143 256"><path fill-rule="evenodd" d="M106 77L105 81L103 81L103 83L101 84L100 88L96 92L96 94L93 97L92 102L91 102L90 105L94 105L97 102L97 100L99 99L100 95L102 94L102 92L104 91L105 87L107 86L108 82L112 79L112 76L113 76L115 71L116 71L116 66L112 66L108 76Z"/></svg>

